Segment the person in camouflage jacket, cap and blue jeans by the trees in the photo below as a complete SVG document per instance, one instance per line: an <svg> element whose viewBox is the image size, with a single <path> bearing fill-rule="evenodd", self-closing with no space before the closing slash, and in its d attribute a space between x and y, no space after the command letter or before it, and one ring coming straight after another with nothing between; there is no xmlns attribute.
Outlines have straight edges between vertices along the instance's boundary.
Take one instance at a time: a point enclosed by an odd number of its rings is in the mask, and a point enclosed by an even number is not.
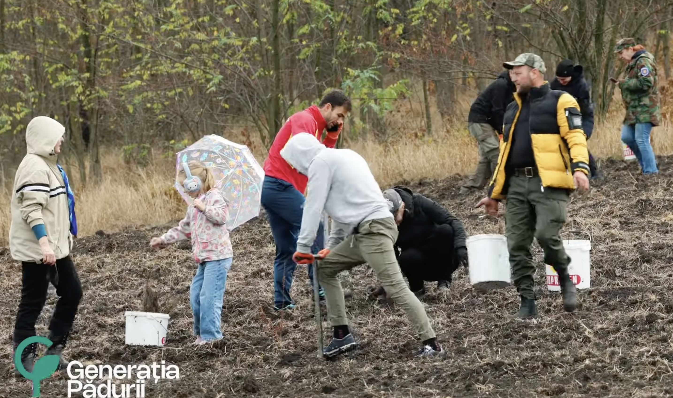
<svg viewBox="0 0 673 398"><path fill-rule="evenodd" d="M626 106L622 126L622 141L629 145L640 164L643 174L658 172L657 161L649 143L649 133L661 123L657 88L657 65L654 56L645 51L633 38L619 40L614 48L619 57L627 61L625 77L616 81Z"/></svg>

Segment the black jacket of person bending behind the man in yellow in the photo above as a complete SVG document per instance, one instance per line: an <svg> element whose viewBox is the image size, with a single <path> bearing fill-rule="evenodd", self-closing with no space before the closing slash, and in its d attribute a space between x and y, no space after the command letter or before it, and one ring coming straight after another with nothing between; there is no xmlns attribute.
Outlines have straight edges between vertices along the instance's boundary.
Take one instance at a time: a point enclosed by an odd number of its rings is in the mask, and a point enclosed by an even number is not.
<svg viewBox="0 0 673 398"><path fill-rule="evenodd" d="M516 86L514 86L509 78L509 70L503 71L472 102L467 121L472 123L487 123L499 134L502 133L503 115L509 102L514 100L514 92L516 92Z"/></svg>

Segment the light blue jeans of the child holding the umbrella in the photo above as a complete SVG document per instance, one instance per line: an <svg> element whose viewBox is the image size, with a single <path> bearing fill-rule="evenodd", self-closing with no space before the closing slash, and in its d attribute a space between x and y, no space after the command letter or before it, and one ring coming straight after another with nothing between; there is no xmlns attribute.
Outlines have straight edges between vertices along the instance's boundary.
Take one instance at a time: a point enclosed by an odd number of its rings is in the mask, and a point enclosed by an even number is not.
<svg viewBox="0 0 673 398"><path fill-rule="evenodd" d="M204 261L189 288L189 302L194 314L194 335L204 340L222 338L220 321L222 300L227 282L227 273L232 267L232 257L223 260Z"/></svg>

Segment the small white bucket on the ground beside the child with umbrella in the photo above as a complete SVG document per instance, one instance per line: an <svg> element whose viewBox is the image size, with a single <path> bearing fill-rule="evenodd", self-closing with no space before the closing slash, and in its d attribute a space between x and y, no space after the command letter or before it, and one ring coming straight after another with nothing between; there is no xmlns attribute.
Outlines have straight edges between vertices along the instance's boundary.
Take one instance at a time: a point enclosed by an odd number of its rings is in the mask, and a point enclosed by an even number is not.
<svg viewBox="0 0 673 398"><path fill-rule="evenodd" d="M127 311L126 343L129 345L165 345L170 315L158 312Z"/></svg>

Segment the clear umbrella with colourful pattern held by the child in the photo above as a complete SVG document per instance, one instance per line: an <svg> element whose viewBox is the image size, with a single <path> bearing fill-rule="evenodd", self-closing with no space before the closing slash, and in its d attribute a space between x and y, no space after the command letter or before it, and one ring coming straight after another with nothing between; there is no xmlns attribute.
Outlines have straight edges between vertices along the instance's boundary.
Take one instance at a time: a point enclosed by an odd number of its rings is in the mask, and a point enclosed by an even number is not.
<svg viewBox="0 0 673 398"><path fill-rule="evenodd" d="M229 230L259 215L264 170L246 145L219 135L205 135L177 155L174 187L187 203L191 204L192 198L178 183L178 174L182 170L182 162L196 161L213 170L215 188L224 194L229 203Z"/></svg>

